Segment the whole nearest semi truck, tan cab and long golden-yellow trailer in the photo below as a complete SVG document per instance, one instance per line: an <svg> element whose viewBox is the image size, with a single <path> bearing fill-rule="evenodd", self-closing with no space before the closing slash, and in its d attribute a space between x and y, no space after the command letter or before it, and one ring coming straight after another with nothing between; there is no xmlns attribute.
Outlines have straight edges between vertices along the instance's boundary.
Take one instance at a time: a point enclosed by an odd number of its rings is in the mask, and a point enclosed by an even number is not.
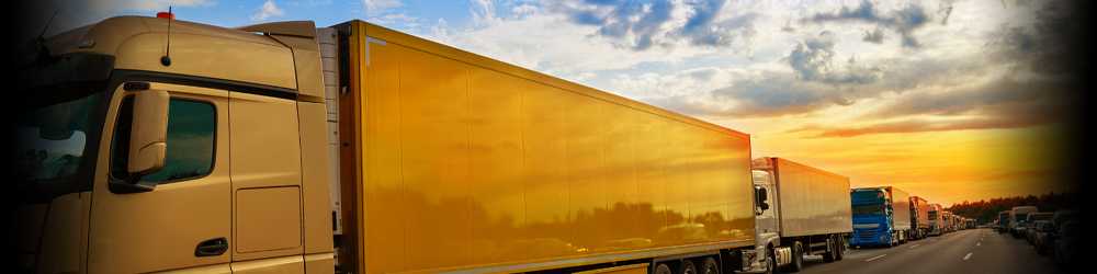
<svg viewBox="0 0 1097 274"><path fill-rule="evenodd" d="M24 271L726 273L754 252L748 135L370 23L121 16L37 56Z"/></svg>

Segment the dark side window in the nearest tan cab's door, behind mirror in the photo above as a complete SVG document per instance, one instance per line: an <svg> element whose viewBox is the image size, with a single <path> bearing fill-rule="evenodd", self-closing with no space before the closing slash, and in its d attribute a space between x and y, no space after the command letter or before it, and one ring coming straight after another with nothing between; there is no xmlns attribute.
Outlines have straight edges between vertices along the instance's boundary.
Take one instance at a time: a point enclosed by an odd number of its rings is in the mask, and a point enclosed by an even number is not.
<svg viewBox="0 0 1097 274"><path fill-rule="evenodd" d="M168 105L168 151L163 169L142 176L144 182L174 183L210 174L214 161L217 113L213 104L171 99ZM111 176L127 176L133 96L122 102L111 144Z"/></svg>

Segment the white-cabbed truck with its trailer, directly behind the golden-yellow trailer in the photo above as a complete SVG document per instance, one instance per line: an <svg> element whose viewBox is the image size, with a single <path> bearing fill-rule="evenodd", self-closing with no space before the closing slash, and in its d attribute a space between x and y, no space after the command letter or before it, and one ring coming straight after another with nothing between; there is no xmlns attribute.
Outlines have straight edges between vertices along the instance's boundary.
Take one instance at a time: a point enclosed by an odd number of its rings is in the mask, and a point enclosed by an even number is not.
<svg viewBox="0 0 1097 274"><path fill-rule="evenodd" d="M754 159L754 272L799 272L804 255L841 260L852 231L849 179L776 157Z"/></svg>

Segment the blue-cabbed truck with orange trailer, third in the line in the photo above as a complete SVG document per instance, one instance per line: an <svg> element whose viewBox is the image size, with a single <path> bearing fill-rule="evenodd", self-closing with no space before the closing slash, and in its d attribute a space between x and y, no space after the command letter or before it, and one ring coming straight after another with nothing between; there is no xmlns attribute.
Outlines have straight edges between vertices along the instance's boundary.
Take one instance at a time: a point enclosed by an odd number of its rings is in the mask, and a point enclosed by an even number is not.
<svg viewBox="0 0 1097 274"><path fill-rule="evenodd" d="M851 247L895 247L912 237L911 195L893 186L853 189Z"/></svg>

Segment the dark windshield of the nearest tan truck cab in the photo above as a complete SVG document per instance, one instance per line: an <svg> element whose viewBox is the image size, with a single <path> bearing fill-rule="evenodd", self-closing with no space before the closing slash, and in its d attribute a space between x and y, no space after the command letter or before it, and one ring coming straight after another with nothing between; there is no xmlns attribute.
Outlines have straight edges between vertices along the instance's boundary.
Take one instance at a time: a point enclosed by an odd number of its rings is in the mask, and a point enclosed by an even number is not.
<svg viewBox="0 0 1097 274"><path fill-rule="evenodd" d="M33 102L15 126L15 180L30 196L71 192L76 178L91 157L86 157L102 117L94 115L103 93L72 90L41 91L57 94L49 102ZM36 94L43 94L36 93Z"/></svg>

